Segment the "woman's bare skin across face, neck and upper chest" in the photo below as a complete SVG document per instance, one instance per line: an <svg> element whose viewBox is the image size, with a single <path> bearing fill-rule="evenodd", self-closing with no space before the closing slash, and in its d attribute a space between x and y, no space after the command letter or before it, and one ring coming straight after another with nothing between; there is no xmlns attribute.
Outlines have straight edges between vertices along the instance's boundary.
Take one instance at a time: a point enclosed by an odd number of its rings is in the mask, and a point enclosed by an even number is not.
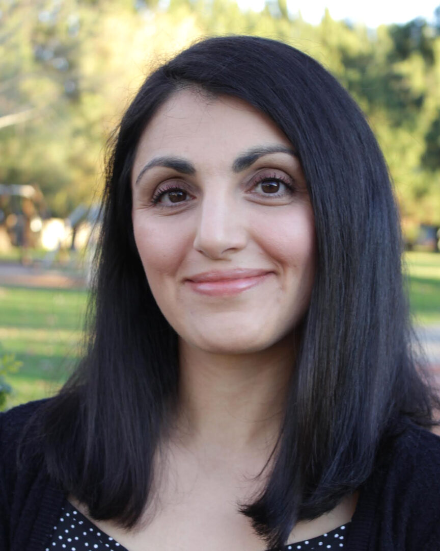
<svg viewBox="0 0 440 551"><path fill-rule="evenodd" d="M295 328L310 302L315 224L303 171L265 115L235 98L184 90L145 129L132 180L136 246L179 336L180 399L144 522L130 532L94 522L130 551L207 543L262 551L237 503L265 485L265 474L256 476L278 435ZM191 283L195 274L234 269L263 275L226 294L222 283L214 294ZM355 500L298 523L289 543L348 522Z"/></svg>

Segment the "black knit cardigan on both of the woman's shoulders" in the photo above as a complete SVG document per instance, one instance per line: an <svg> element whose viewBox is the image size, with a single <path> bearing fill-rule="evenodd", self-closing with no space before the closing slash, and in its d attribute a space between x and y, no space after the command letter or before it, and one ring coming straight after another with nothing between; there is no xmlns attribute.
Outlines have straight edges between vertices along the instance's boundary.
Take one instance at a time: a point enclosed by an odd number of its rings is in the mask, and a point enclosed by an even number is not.
<svg viewBox="0 0 440 551"><path fill-rule="evenodd" d="M41 404L0 415L0 551L45 551L61 512L63 490L48 476L35 441L24 446L19 467L16 461L21 430ZM381 467L360 488L346 551L440 551L440 437L408 419L401 425Z"/></svg>

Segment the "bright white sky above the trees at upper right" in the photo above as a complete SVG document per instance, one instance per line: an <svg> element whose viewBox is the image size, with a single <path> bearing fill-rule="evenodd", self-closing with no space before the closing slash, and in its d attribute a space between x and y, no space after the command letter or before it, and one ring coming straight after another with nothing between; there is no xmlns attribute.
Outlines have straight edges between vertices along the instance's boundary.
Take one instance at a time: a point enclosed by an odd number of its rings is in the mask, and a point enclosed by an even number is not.
<svg viewBox="0 0 440 551"><path fill-rule="evenodd" d="M261 10L264 3L264 0L238 0L241 7L255 10ZM287 0L287 5L293 14L300 10L303 18L313 25L321 21L327 7L333 19L350 19L353 23L364 23L375 28L382 24L406 23L416 17L432 21L434 9L440 5L440 0Z"/></svg>

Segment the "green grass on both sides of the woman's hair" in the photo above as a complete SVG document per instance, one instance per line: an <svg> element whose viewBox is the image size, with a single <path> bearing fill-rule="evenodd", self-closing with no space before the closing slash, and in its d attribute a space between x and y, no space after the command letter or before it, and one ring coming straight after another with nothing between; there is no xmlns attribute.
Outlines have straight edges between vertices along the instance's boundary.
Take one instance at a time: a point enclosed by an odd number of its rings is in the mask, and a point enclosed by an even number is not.
<svg viewBox="0 0 440 551"><path fill-rule="evenodd" d="M406 255L416 323L440 323L440 254ZM8 376L8 407L50 396L80 355L85 290L0 287L0 342L23 366Z"/></svg>

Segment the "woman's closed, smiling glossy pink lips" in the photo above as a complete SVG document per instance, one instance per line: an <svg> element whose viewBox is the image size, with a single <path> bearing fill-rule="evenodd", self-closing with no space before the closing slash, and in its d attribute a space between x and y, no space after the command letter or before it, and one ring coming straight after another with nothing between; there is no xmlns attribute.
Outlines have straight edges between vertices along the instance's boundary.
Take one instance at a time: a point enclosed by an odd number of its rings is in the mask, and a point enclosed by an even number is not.
<svg viewBox="0 0 440 551"><path fill-rule="evenodd" d="M261 269L235 269L196 274L186 279L191 289L211 296L226 296L241 293L261 283L272 274Z"/></svg>

